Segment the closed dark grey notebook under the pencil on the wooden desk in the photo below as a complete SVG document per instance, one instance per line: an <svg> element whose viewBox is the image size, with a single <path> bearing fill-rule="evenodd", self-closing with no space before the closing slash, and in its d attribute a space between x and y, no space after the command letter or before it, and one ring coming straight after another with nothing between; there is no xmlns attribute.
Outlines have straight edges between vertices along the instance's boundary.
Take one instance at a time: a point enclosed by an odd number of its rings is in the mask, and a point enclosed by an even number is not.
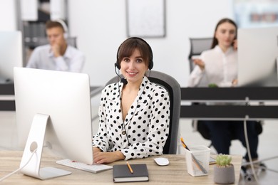
<svg viewBox="0 0 278 185"><path fill-rule="evenodd" d="M130 172L127 164L115 164L113 166L113 181L148 181L149 174L146 164L130 164L133 173Z"/></svg>

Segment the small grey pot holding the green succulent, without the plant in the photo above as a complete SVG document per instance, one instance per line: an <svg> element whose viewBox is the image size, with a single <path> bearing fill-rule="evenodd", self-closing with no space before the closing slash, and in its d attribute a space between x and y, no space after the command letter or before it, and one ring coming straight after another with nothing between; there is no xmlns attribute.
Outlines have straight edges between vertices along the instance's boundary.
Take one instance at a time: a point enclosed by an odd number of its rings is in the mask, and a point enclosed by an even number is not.
<svg viewBox="0 0 278 185"><path fill-rule="evenodd" d="M214 181L216 184L232 184L235 182L234 165L227 167L214 167Z"/></svg>

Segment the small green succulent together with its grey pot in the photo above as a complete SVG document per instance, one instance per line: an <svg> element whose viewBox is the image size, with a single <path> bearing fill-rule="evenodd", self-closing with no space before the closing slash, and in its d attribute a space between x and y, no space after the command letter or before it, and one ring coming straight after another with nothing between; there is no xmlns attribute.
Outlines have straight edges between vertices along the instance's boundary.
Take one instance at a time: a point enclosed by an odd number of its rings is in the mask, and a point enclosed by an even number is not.
<svg viewBox="0 0 278 185"><path fill-rule="evenodd" d="M226 154L217 155L214 166L214 181L216 184L232 184L235 182L235 168L232 157Z"/></svg>

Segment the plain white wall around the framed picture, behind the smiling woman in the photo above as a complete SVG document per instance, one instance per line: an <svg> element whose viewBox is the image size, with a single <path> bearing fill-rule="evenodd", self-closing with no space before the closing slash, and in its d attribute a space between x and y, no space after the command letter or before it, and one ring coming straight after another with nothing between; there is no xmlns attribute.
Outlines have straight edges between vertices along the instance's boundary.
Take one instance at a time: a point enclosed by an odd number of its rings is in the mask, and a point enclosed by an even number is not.
<svg viewBox="0 0 278 185"><path fill-rule="evenodd" d="M187 86L189 37L212 36L220 18L232 18L232 0L165 0L166 37L145 38L153 48L153 70L172 75ZM118 46L126 34L125 0L70 0L68 21L71 36L86 54L83 70L91 85L105 85L115 75Z"/></svg>

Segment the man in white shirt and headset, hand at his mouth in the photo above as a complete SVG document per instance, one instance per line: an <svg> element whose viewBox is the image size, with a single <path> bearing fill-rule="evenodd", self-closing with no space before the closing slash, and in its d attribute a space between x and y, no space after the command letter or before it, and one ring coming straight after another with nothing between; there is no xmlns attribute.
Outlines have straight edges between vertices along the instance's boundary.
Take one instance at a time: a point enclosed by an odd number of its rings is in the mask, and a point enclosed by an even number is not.
<svg viewBox="0 0 278 185"><path fill-rule="evenodd" d="M77 48L68 45L66 23L60 19L47 21L46 36L49 44L36 47L26 67L81 73L85 57Z"/></svg>

